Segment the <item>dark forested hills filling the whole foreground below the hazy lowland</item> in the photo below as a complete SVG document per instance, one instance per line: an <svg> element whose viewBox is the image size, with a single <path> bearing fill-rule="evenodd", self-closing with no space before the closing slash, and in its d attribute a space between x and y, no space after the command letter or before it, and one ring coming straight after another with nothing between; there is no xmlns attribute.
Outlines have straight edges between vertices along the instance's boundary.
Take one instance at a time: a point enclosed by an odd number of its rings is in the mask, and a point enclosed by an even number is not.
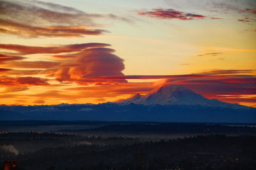
<svg viewBox="0 0 256 170"><path fill-rule="evenodd" d="M218 134L221 128L226 134ZM179 137L182 132L187 135ZM255 143L250 126L110 123L84 130L4 132L0 159L1 168L6 160L16 160L16 169L27 170L255 169Z"/></svg>

